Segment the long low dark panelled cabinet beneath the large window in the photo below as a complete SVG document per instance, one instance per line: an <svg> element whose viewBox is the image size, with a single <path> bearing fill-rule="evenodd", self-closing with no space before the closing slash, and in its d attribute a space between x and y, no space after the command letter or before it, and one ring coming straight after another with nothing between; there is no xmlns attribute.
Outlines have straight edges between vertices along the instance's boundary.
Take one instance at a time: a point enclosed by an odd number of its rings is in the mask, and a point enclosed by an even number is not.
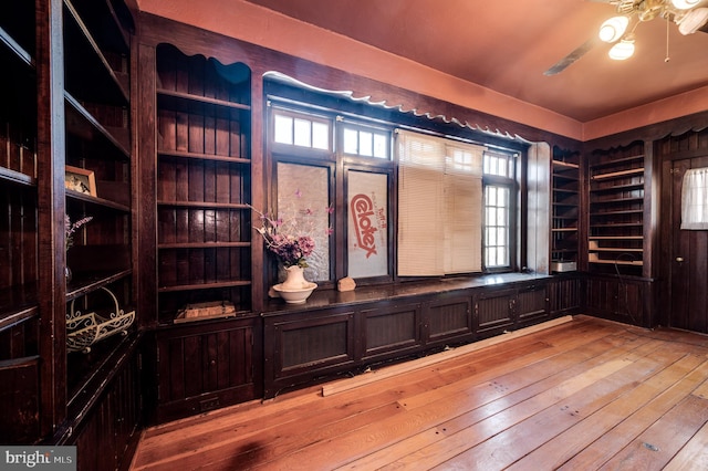
<svg viewBox="0 0 708 471"><path fill-rule="evenodd" d="M550 280L430 289L366 303L267 312L264 396L549 320ZM357 292L366 296L366 289Z"/></svg>

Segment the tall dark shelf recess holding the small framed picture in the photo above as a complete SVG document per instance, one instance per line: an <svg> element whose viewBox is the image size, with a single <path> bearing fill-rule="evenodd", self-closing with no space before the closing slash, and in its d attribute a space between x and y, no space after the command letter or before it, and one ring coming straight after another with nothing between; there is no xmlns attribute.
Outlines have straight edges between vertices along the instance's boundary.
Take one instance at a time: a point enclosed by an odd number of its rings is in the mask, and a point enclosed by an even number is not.
<svg viewBox="0 0 708 471"><path fill-rule="evenodd" d="M102 305L102 289L107 289L127 313L135 305L129 83L133 21L125 6L107 0L64 0L62 19L64 210L66 223L91 218L72 234L71 245L66 243L66 266L72 274L66 280L66 302L74 310L90 312ZM105 317L118 314L110 307ZM116 337L102 341L90 355L67 354L70 410L90 400L85 391L95 369L123 343L124 338Z"/></svg>

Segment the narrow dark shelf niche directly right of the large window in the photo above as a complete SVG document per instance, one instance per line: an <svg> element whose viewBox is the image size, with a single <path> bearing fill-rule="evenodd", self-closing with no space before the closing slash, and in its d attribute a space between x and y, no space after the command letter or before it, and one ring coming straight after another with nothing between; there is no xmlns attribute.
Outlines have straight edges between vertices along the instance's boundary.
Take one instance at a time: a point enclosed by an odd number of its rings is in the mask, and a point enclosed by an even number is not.
<svg viewBox="0 0 708 471"><path fill-rule="evenodd" d="M580 154L554 148L551 177L551 271L574 271L580 242Z"/></svg>

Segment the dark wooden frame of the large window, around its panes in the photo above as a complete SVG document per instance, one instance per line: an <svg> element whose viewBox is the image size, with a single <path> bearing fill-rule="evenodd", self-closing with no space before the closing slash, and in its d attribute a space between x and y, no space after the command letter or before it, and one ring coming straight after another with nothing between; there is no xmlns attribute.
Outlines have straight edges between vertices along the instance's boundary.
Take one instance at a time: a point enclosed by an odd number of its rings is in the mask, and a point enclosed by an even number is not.
<svg viewBox="0 0 708 471"><path fill-rule="evenodd" d="M504 268L488 269L485 264L485 254L480 254L482 258L482 266L480 272L469 273L455 273L449 275L430 275L430 276L415 276L417 281L436 280L440 278L455 278L465 275L479 275L483 273L499 273L499 272L517 272L521 265L522 258L525 253L525 248L521 247L524 243L525 237L520 232L523 229L525 214L520 211L524 210L525 197L522 193L525 189L525 185L522 181L524 178L524 166L528 159L528 143L510 140L508 138L496 136L485 132L476 132L470 128L460 128L452 123L441 123L431 118L425 118L415 116L408 113L397 113L392 116L392 111L385 107L378 107L375 104L362 104L361 102L353 102L350 96L340 94L339 92L327 92L320 90L309 90L306 87L300 87L292 84L279 83L278 81L267 81L263 93L266 102L266 117L268 119L267 132L269 133L264 138L264 191L263 197L268 199L268 202L273 201L277 197L277 179L274 178L274 169L277 161L284 161L287 159L290 163L310 165L323 165L325 161L332 167L331 174L331 187L330 192L332 195L332 203L334 207L334 216L332 218L332 228L334 234L331 239L331 250L334 252L331 254L331 273L333 278L327 283L320 283L323 289L336 287L336 280L347 275L347 249L348 249L348 213L347 210L347 174L350 170L362 170L373 172L386 172L389 178L389 185L393 190L388 191L388 275L376 276L372 279L356 279L357 285L368 284L386 284L386 283L400 283L406 281L413 281L410 276L400 276L397 274L397 224L398 224L398 157L395 153L395 129L409 129L416 132L427 133L434 136L449 138L451 140L458 140L461 143L481 145L488 147L492 151L500 151L512 156L513 161L513 179L510 179L511 184L511 229L509 237L509 255L510 264ZM332 150L323 151L313 148L301 148L294 145L283 145L271 140L272 136L272 119L271 108L277 108L284 113L305 114L308 116L314 116L319 119L327 121L331 124L330 136ZM340 125L344 123L344 125ZM389 132L389 155L387 159L379 157L366 157L344 153L343 150L343 129L344 126L360 127L366 130L381 130L385 129ZM494 181L490 176L482 176L482 193L485 191L485 182ZM482 208L483 211L483 198ZM482 237L482 250L483 242L483 226L480 227ZM264 279L267 282L272 281L272 276Z"/></svg>

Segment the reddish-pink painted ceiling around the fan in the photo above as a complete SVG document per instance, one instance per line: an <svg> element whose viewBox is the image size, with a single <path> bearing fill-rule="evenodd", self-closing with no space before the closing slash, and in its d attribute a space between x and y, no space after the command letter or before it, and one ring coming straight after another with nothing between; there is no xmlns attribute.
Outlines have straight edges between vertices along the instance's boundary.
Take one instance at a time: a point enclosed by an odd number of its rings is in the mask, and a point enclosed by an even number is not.
<svg viewBox="0 0 708 471"><path fill-rule="evenodd" d="M708 34L660 18L636 29L626 61L600 41L563 72L543 75L593 39L615 7L589 0L248 0L287 17L586 123L708 85ZM313 45L314 46L314 45Z"/></svg>

